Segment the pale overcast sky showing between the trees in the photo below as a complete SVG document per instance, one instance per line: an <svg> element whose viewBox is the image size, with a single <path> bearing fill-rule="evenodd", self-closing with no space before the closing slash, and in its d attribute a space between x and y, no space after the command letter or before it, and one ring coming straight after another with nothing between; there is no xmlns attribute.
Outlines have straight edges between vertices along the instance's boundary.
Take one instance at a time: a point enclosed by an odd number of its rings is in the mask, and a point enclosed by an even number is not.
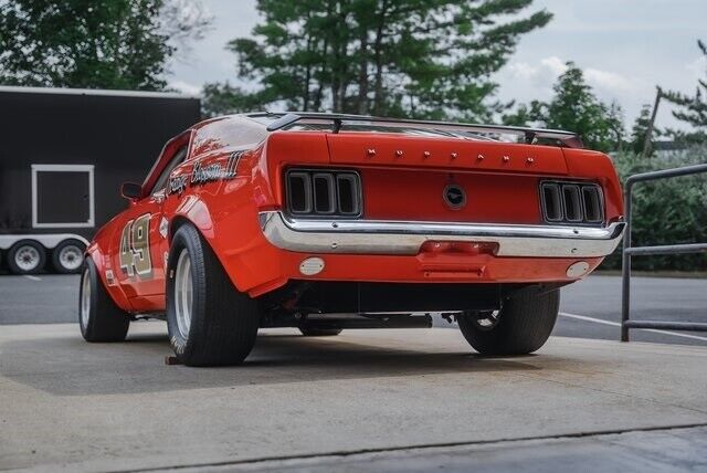
<svg viewBox="0 0 707 473"><path fill-rule="evenodd" d="M212 29L172 64L169 77L192 94L205 82L238 82L225 43L249 36L258 22L255 0L202 2ZM564 62L574 61L601 99L623 106L630 124L642 104L653 103L656 85L692 94L705 76L696 41L707 41L707 0L536 0L528 12L544 8L555 13L552 21L525 35L496 76L502 99L549 98ZM657 124L678 126L663 105Z"/></svg>

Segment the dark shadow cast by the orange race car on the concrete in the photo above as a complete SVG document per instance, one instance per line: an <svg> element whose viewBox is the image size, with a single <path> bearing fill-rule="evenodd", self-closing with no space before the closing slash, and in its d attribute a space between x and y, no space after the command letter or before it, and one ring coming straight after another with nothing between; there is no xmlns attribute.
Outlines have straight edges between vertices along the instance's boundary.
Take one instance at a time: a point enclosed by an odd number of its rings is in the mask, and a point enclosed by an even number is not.
<svg viewBox="0 0 707 473"><path fill-rule="evenodd" d="M542 369L535 356L490 358L471 348L430 353L365 340L264 335L243 365L218 368L167 366L171 349L163 334L136 334L117 344L87 344L80 336L9 340L1 347L0 375L52 395L86 396Z"/></svg>

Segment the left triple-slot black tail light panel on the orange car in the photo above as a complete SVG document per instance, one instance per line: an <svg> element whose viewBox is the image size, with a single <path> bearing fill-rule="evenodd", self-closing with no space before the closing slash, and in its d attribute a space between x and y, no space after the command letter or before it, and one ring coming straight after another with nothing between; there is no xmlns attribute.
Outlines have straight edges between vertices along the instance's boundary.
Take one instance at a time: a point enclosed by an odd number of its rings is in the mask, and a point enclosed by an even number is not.
<svg viewBox="0 0 707 473"><path fill-rule="evenodd" d="M361 179L358 172L326 169L291 169L285 175L287 210L302 217L361 216Z"/></svg>

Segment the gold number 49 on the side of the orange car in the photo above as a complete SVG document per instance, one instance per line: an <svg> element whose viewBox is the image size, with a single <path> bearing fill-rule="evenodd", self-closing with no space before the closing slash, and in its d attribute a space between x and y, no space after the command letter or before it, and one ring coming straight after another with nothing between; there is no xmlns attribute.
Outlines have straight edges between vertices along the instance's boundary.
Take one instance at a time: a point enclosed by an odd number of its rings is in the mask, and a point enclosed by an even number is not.
<svg viewBox="0 0 707 473"><path fill-rule="evenodd" d="M146 213L130 220L120 235L120 269L140 278L152 277L152 261L150 260L150 214Z"/></svg>

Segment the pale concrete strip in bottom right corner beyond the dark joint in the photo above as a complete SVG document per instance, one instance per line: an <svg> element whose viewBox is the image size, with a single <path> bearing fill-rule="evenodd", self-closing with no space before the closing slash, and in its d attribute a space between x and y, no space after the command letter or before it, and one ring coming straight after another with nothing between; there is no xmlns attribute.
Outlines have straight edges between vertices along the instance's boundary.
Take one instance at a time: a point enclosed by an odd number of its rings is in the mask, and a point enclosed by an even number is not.
<svg viewBox="0 0 707 473"><path fill-rule="evenodd" d="M679 446L666 451L665 446ZM272 460L186 469L187 472L679 472L704 469L707 428L631 431L553 439L476 442L350 455Z"/></svg>

